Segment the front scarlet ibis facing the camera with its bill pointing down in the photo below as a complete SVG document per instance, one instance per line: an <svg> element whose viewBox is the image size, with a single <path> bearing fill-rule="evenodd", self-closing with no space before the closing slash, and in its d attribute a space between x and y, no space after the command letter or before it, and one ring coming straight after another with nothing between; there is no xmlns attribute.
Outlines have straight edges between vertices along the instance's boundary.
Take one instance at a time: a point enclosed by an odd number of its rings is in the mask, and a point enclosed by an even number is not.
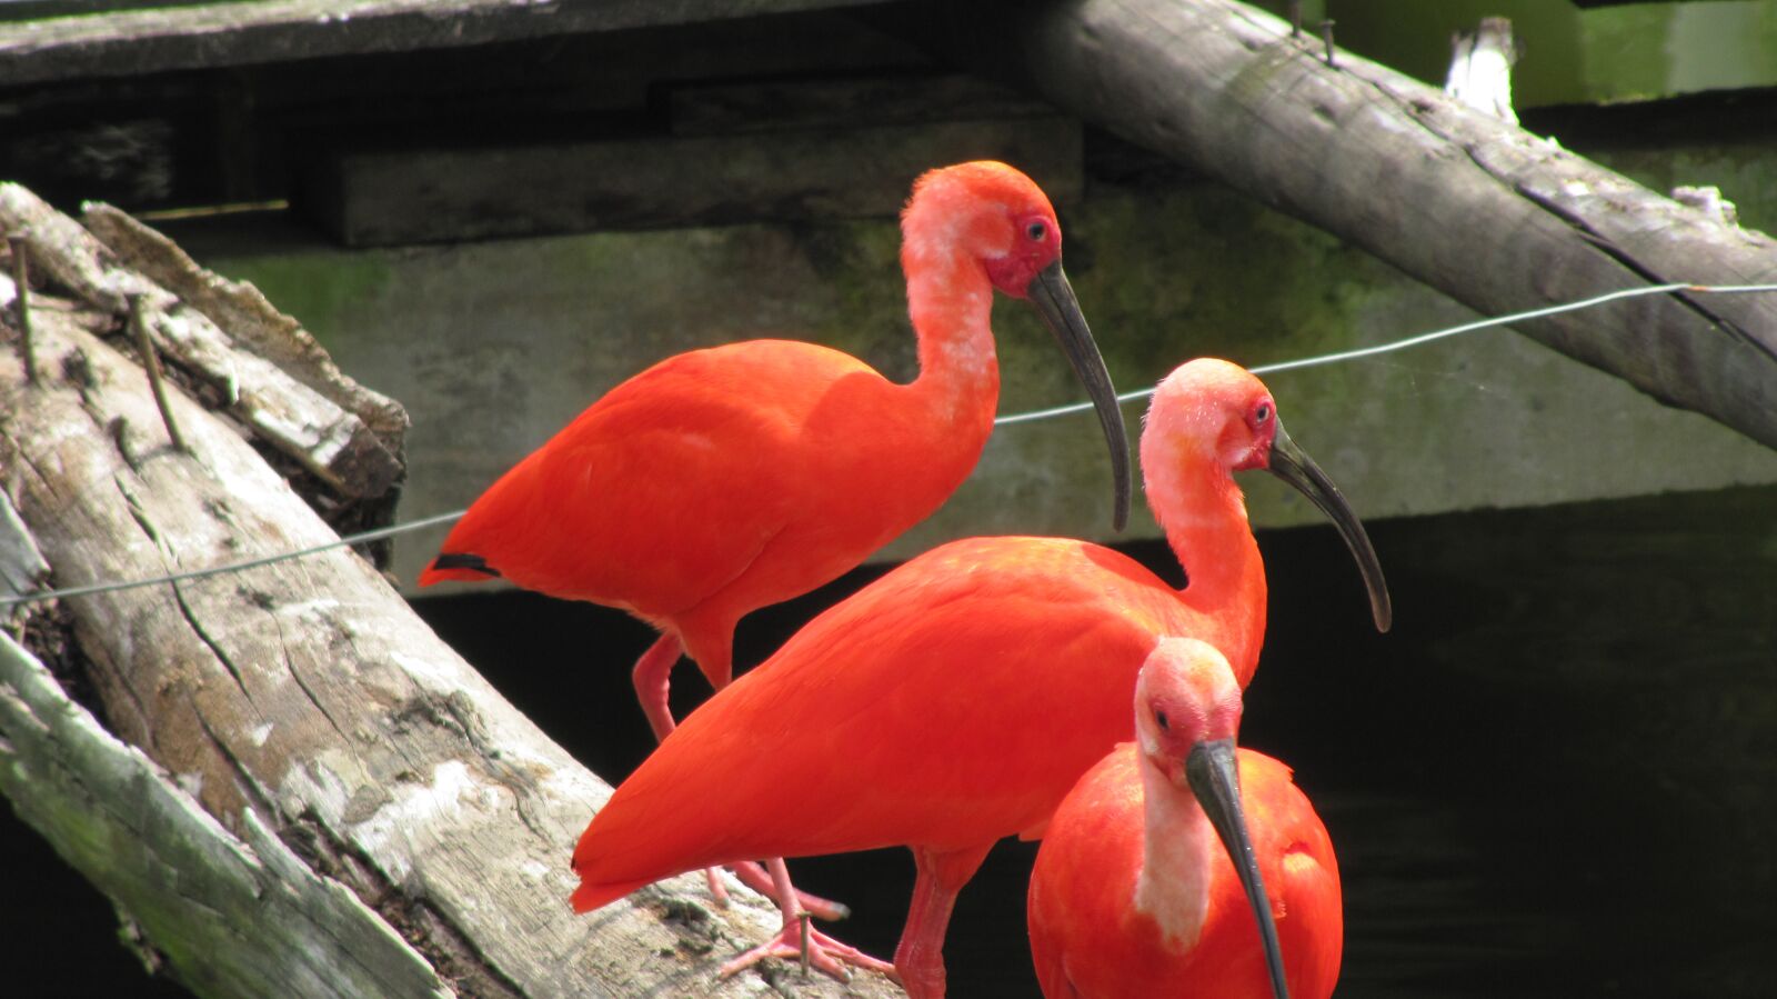
<svg viewBox="0 0 1777 999"><path fill-rule="evenodd" d="M1025 917L1043 995L1333 994L1333 841L1288 766L1242 748L1235 777L1239 725L1228 659L1162 638L1136 679L1136 741L1080 777L1036 855Z"/></svg>

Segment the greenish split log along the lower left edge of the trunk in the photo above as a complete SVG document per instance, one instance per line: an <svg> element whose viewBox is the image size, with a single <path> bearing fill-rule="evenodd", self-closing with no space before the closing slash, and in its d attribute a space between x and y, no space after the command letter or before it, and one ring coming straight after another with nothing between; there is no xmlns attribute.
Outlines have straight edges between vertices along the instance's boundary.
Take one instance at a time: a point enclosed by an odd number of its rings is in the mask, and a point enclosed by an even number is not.
<svg viewBox="0 0 1777 999"><path fill-rule="evenodd" d="M382 917L304 864L252 809L240 816L242 835L222 828L4 633L0 793L201 994L451 994Z"/></svg>

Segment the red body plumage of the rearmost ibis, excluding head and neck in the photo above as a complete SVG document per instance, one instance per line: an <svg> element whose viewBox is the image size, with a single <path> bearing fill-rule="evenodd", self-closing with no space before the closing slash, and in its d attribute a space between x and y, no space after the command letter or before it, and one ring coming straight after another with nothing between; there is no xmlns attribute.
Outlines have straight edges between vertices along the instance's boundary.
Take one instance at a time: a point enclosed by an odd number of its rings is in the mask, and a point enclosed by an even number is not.
<svg viewBox="0 0 1777 999"><path fill-rule="evenodd" d="M741 615L800 595L926 517L968 475L999 379L938 400L810 343L681 354L611 389L499 478L442 551L517 587L670 627L713 686ZM419 581L485 578L426 569Z"/></svg>

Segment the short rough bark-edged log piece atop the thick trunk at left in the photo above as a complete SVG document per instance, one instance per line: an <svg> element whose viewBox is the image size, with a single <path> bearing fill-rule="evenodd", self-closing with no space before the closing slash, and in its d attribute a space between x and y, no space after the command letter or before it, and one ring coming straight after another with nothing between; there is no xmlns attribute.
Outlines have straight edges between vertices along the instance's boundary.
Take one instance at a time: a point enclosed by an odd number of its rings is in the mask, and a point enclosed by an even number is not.
<svg viewBox="0 0 1777 999"><path fill-rule="evenodd" d="M119 242L124 235L140 238L117 224L112 213L101 212L100 217ZM27 188L0 183L0 228L28 231L36 254L32 263L96 309L123 316L130 313L128 297L142 295L144 324L155 345L215 386L229 412L332 489L350 498L379 496L400 480L402 462L394 457L400 427L393 423L386 400L373 409L382 418L384 434L396 436L394 450L355 412L291 379L272 361L238 348L235 338L199 308L124 267L92 233ZM142 256L140 244L126 249ZM195 281L188 272L179 272L179 277Z"/></svg>

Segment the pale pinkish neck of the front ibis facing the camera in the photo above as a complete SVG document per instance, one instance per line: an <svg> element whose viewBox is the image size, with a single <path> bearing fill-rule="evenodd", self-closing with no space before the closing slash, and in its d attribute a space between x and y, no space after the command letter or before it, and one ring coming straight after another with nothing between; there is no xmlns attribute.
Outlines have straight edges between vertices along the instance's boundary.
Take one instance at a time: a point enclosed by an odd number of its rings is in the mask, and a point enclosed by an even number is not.
<svg viewBox="0 0 1777 999"><path fill-rule="evenodd" d="M1136 912L1182 953L1196 946L1210 908L1210 871L1221 843L1191 791L1175 786L1146 755L1137 754L1144 800L1141 873Z"/></svg>

